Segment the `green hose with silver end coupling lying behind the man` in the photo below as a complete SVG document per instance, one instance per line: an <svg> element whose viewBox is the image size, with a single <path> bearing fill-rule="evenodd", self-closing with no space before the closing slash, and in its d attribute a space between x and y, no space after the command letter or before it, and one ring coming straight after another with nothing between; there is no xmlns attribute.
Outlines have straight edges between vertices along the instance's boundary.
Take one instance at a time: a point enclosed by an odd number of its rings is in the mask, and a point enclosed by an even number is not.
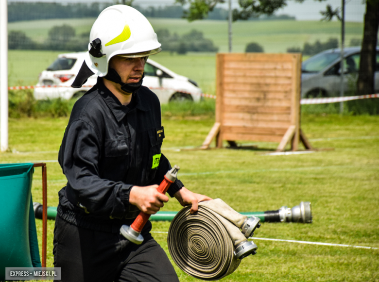
<svg viewBox="0 0 379 282"><path fill-rule="evenodd" d="M42 204L34 202L33 208L35 218L42 219ZM56 207L48 207L48 219L55 220L56 213ZM178 212L157 212L155 215L150 216L150 221L172 221L177 213ZM299 205L294 206L293 208L282 206L280 209L275 211L241 212L240 214L247 217L259 217L261 222L312 222L310 202L300 202Z"/></svg>

